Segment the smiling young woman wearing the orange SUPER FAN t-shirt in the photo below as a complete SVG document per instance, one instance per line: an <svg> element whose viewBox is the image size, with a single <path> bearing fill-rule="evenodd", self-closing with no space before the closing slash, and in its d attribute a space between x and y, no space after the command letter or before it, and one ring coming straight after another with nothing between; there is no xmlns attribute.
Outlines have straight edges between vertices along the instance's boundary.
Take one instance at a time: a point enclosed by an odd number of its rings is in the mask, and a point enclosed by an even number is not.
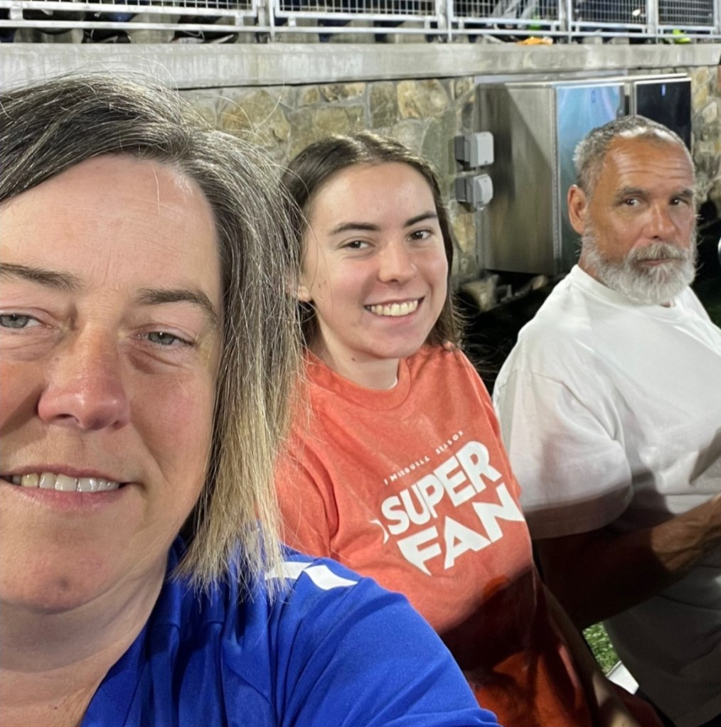
<svg viewBox="0 0 721 727"><path fill-rule="evenodd" d="M287 542L404 593L502 724L637 725L533 566L493 406L459 348L433 169L363 132L310 145L283 183L310 402L276 470Z"/></svg>

